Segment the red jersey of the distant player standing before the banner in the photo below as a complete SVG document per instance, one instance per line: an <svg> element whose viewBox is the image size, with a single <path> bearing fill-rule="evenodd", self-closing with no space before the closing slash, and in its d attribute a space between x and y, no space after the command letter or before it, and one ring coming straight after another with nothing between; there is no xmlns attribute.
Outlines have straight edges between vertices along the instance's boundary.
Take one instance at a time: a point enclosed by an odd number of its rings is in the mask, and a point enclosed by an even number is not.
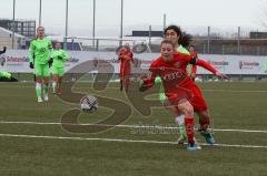
<svg viewBox="0 0 267 176"><path fill-rule="evenodd" d="M134 62L134 54L130 51L121 49L119 52L119 60L120 60L120 75L129 75L130 74L130 62Z"/></svg>

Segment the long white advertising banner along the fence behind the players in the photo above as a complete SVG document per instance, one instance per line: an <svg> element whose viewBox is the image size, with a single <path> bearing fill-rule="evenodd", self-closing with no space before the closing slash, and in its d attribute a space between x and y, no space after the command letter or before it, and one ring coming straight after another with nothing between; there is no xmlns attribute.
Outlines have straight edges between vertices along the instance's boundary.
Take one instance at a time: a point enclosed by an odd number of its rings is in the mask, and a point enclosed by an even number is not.
<svg viewBox="0 0 267 176"><path fill-rule="evenodd" d="M109 73L110 66L115 73L119 72L118 55L115 52L87 52L87 51L68 51L70 60L66 62L66 71L70 71L77 65L82 65L88 61L92 69L98 72ZM8 50L0 55L0 71L12 73L31 73L29 68L29 51L27 50ZM135 64L132 73L147 70L151 62L159 56L159 53L134 54ZM217 70L226 74L266 74L267 75L267 56L255 55L216 55L199 54L200 59L209 62ZM85 64L86 65L86 64ZM72 71L72 70L71 70ZM71 72L70 71L70 72ZM198 66L197 74L210 74L205 69Z"/></svg>

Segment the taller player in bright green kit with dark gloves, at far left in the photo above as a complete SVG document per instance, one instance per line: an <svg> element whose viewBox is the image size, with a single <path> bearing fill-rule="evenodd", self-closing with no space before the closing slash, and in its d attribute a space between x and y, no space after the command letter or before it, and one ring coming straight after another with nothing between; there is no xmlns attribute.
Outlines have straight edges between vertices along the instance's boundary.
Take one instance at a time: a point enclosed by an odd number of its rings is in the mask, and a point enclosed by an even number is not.
<svg viewBox="0 0 267 176"><path fill-rule="evenodd" d="M39 103L48 101L48 86L49 86L49 65L52 60L50 59L52 51L52 42L44 37L44 28L37 28L37 38L30 43L30 68L34 69L36 74L36 94ZM42 91L43 87L43 91ZM42 96L43 93L43 96ZM42 99L43 97L43 99Z"/></svg>

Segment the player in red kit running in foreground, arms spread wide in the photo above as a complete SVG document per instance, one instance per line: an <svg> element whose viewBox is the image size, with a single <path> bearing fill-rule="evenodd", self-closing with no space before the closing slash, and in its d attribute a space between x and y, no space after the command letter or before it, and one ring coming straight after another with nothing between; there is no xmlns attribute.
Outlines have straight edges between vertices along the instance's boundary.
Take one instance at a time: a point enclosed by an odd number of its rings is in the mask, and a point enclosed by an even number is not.
<svg viewBox="0 0 267 176"><path fill-rule="evenodd" d="M199 103L206 106L204 99L199 99L201 95L198 86L192 82L192 80L187 74L187 65L195 64L202 66L214 74L226 77L222 73L216 71L209 63L191 58L190 55L176 53L176 48L174 43L169 40L164 40L160 45L161 56L156 59L149 71L151 76L149 79L142 80L142 85L140 91L146 91L152 86L156 76L160 76L162 80L165 94L167 101L165 105L172 106L172 111L176 115L182 114L185 116L186 133L188 139L188 151L196 151L196 145L194 142L194 107L192 103ZM195 96L198 96L195 100ZM201 102L202 101L202 102Z"/></svg>

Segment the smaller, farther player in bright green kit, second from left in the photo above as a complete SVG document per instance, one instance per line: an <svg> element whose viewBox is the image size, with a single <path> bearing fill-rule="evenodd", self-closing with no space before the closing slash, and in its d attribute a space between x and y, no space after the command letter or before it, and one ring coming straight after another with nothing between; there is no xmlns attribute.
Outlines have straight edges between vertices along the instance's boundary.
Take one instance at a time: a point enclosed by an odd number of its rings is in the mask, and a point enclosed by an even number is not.
<svg viewBox="0 0 267 176"><path fill-rule="evenodd" d="M65 50L61 49L61 43L57 42L55 44L55 50L52 51L52 89L53 94L61 94L61 82L65 74L65 62L69 60L69 55Z"/></svg>

